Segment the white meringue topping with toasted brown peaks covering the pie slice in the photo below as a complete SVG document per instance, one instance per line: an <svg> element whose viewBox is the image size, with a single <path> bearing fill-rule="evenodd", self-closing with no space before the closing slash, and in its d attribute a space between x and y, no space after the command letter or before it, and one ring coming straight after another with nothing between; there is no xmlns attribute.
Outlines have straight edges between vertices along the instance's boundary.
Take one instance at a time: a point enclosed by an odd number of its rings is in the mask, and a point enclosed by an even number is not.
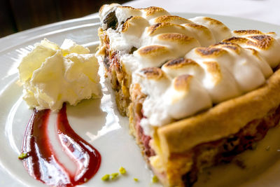
<svg viewBox="0 0 280 187"><path fill-rule="evenodd" d="M274 33L231 32L218 20L188 20L158 7L105 9L102 18L109 11L118 17L118 29L107 32L110 47L125 54L120 62L132 74L132 83L153 96L144 105L152 126L193 115L258 88L280 59L280 40ZM106 22L102 26L110 27ZM166 97L172 102L165 102ZM165 113L154 110L159 104L166 106Z"/></svg>

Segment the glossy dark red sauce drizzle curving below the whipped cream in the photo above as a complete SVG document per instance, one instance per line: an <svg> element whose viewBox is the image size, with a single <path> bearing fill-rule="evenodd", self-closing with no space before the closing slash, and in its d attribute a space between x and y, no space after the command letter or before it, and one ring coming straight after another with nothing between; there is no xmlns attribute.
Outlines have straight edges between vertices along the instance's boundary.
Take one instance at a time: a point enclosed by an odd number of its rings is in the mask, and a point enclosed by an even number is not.
<svg viewBox="0 0 280 187"><path fill-rule="evenodd" d="M71 128L66 115L66 104L57 114L57 137L62 150L75 162L76 171L69 172L57 159L48 136L50 110L34 109L22 142L22 153L27 153L23 164L27 172L48 186L76 186L97 173L101 155Z"/></svg>

